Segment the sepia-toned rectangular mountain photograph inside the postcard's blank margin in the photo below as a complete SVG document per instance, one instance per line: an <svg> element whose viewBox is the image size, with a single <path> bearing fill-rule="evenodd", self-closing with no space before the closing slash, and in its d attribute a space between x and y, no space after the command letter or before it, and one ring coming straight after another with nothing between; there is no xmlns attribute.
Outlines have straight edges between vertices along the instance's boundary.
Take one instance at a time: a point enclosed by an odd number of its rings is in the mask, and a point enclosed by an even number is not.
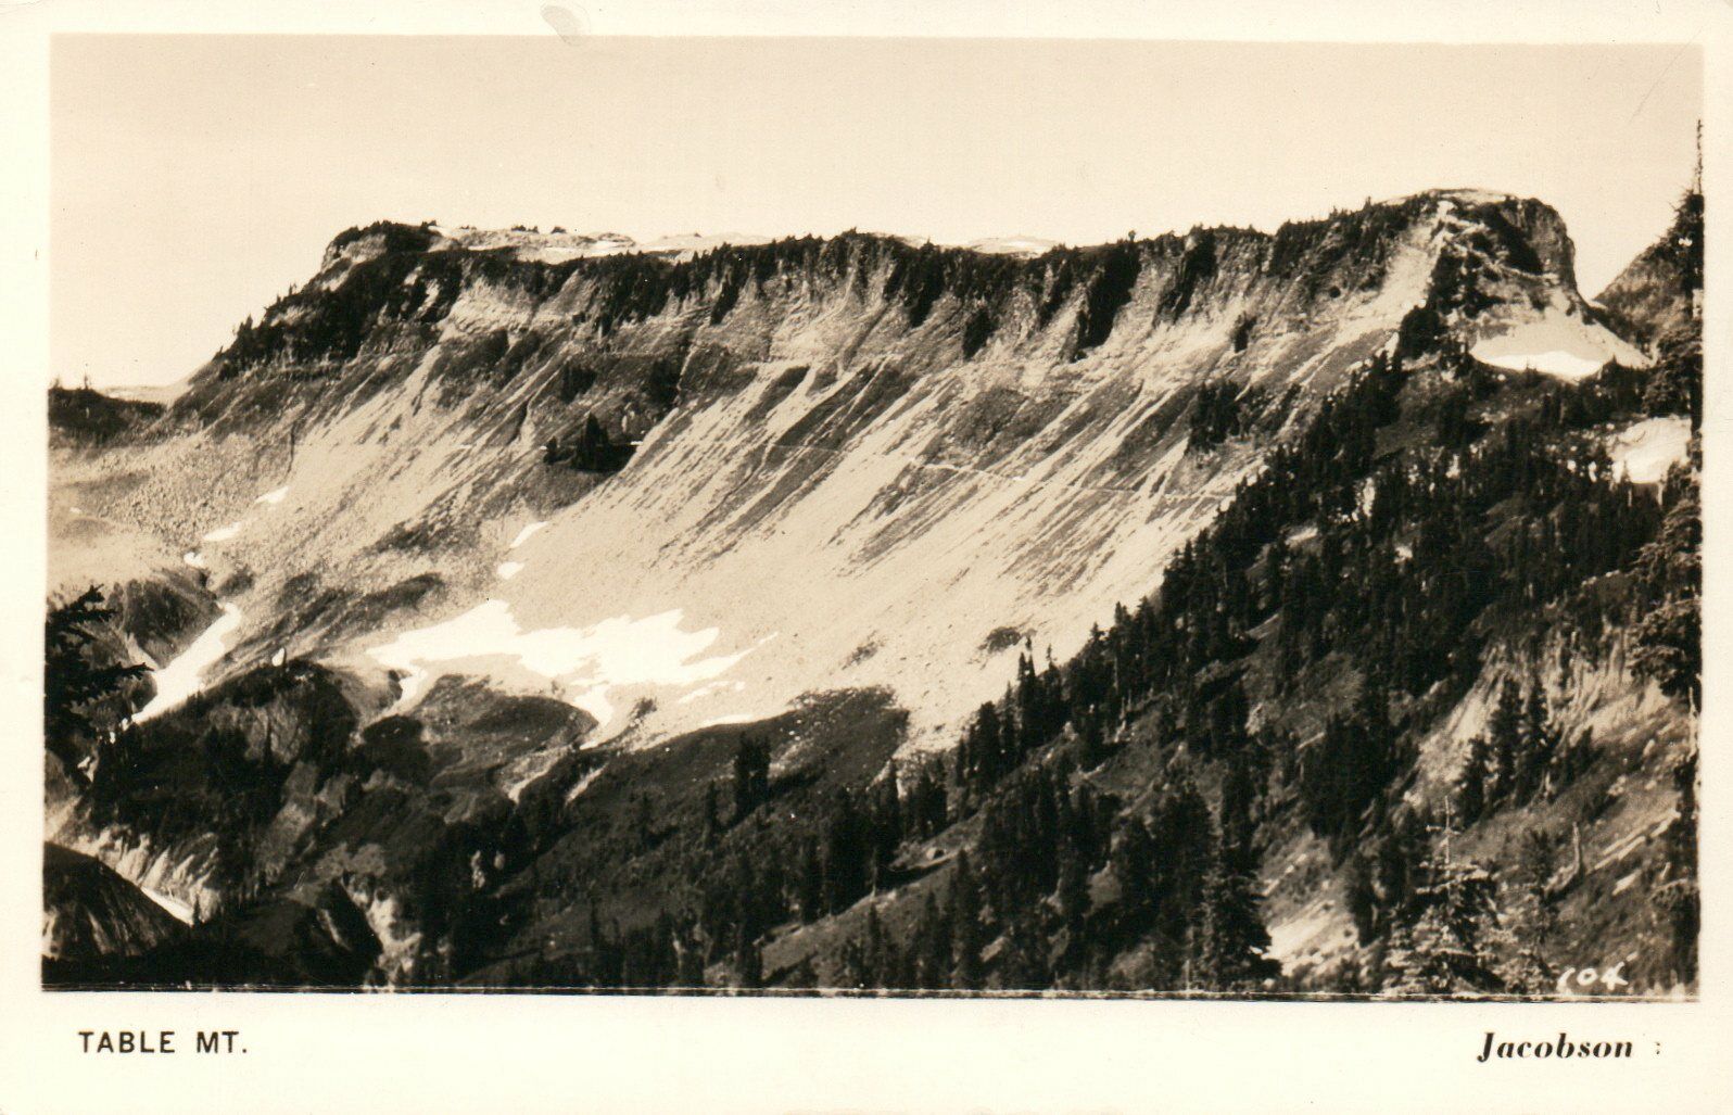
<svg viewBox="0 0 1733 1115"><path fill-rule="evenodd" d="M544 16L54 38L43 988L1697 997L1698 47Z"/></svg>

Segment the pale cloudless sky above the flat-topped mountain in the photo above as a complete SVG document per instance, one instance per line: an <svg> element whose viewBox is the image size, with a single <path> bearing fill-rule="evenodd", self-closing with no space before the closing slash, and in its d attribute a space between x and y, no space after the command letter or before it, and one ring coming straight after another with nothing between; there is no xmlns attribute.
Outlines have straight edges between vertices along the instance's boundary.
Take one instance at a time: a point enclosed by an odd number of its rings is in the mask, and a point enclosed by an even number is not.
<svg viewBox="0 0 1733 1115"><path fill-rule="evenodd" d="M182 380L380 218L1078 245L1483 187L1593 297L1700 102L1674 45L61 35L52 371Z"/></svg>

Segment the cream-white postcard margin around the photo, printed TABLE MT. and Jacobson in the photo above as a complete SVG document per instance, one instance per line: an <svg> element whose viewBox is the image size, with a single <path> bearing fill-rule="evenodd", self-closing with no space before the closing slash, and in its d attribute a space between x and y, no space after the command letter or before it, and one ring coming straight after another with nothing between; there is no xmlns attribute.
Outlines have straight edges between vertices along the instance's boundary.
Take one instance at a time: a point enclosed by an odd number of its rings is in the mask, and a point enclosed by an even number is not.
<svg viewBox="0 0 1733 1115"><path fill-rule="evenodd" d="M539 3L0 0L0 1112L1726 1112L1728 832L1717 754L1730 692L1721 444L1733 437L1733 303L1714 201L1733 182L1728 3L1010 3L652 0L565 3L607 35L879 35L1336 42L1697 42L1707 50L1709 418L1702 876L1697 1004L1409 1006L518 995L125 995L38 990L40 623L47 381L47 36L66 31L548 35ZM1418 121L1416 127L1423 127ZM1617 173L1617 168L1608 168ZM1733 196L1733 194L1730 194ZM1728 258L1733 258L1730 255ZM116 283L151 281L116 276ZM83 1028L243 1032L246 1056L94 1058ZM1485 1030L1634 1040L1629 1063L1477 1065ZM1655 1053L1658 1049L1658 1053Z"/></svg>

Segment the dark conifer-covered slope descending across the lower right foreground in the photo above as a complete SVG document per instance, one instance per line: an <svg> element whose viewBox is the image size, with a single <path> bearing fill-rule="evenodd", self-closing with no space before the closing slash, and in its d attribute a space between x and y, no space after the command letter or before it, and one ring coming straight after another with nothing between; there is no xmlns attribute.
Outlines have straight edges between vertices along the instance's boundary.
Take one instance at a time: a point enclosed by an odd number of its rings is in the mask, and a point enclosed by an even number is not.
<svg viewBox="0 0 1733 1115"><path fill-rule="evenodd" d="M1688 990L1695 463L1643 487L1606 466L1641 387L1374 361L1151 602L977 713L944 824L875 801L896 858L856 903L795 903L763 969ZM1561 987L1584 966L1626 983Z"/></svg>

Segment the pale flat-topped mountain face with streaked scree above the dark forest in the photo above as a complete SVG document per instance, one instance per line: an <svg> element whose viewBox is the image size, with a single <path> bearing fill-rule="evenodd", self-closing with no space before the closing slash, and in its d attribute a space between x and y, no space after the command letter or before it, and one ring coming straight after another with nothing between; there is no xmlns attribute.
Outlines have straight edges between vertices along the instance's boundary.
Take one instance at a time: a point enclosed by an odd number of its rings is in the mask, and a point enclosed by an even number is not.
<svg viewBox="0 0 1733 1115"><path fill-rule="evenodd" d="M1638 359L1586 321L1556 213L1490 194L1033 258L577 239L338 238L104 506L244 572L241 659L392 669L407 702L482 673L646 739L884 687L922 735L1024 638L1068 654L1147 593L1404 321L1563 316ZM1203 447L1206 383L1239 406ZM669 657L634 659L652 633Z"/></svg>

